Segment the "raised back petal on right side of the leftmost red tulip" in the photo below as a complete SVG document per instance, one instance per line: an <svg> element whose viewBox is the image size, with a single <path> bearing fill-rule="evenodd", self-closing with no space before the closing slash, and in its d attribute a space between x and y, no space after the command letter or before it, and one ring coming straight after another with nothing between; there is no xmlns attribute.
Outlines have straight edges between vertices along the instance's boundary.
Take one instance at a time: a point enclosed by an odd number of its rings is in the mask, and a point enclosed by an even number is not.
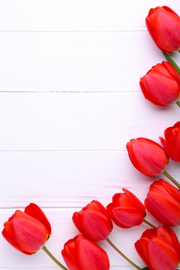
<svg viewBox="0 0 180 270"><path fill-rule="evenodd" d="M41 210L41 208L34 203L30 203L28 206L26 206L24 212L30 215L31 217L34 217L35 219L39 220L41 223L43 223L43 225L46 227L48 231L48 234L49 234L48 239L49 239L51 235L51 225L47 217Z"/></svg>

